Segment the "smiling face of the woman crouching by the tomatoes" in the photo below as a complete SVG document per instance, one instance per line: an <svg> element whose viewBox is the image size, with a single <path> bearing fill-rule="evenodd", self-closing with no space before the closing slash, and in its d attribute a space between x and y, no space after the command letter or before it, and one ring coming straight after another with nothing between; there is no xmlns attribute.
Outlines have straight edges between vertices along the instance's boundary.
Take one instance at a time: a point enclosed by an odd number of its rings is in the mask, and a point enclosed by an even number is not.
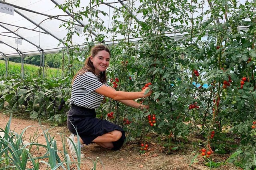
<svg viewBox="0 0 256 170"><path fill-rule="evenodd" d="M94 57L91 56L90 60L93 63L96 75L99 75L100 72L105 71L108 68L110 56L107 51L102 50Z"/></svg>

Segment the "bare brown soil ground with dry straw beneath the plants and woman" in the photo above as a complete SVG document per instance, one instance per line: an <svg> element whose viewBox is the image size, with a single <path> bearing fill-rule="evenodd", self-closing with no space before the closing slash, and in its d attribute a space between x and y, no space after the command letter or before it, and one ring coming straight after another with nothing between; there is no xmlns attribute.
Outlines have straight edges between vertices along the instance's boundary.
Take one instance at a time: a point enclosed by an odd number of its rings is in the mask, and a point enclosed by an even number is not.
<svg viewBox="0 0 256 170"><path fill-rule="evenodd" d="M3 115L0 112L0 128L5 128L6 124L10 119L10 115ZM34 134L40 134L42 132L42 125L44 129L48 129L49 134L55 135L54 139L57 140L58 150L63 150L62 135L68 137L70 135L66 126L56 126L52 127L49 124L39 124L38 119L20 119L13 116L11 119L10 130L22 132L24 128L26 129L26 134L24 135L24 140L30 141L31 136ZM32 127L30 127L32 126ZM196 148L193 148L193 143L198 143L199 138L196 136L190 136L188 142L182 143L181 149L173 150L170 154L164 152L165 148L157 144L157 142L149 142L149 149L146 154L140 154L140 146L135 142L128 142L122 146L118 151L112 151L102 148L96 144L90 144L88 146L83 145L82 153L86 155L87 158L82 160L80 166L81 170L91 170L93 163L96 163L96 170L208 170L207 166L204 165L205 160L202 156L198 156L194 159L198 152L192 153ZM37 137L37 142L41 144L46 144L46 139L44 134ZM68 150L68 146L65 146ZM35 150L33 155L42 156L45 153L45 149ZM221 154L214 155L213 160L215 162L221 162L226 160L230 155ZM97 157L99 160L97 161ZM194 162L190 165L191 161ZM45 160L47 161L47 160ZM72 169L78 169L76 160L73 160ZM100 163L100 161L102 163ZM103 168L103 166L104 168ZM29 165L28 165L29 166ZM45 164L40 163L40 170L50 169ZM225 166L214 168L215 170L239 170L236 166L232 164L226 164Z"/></svg>

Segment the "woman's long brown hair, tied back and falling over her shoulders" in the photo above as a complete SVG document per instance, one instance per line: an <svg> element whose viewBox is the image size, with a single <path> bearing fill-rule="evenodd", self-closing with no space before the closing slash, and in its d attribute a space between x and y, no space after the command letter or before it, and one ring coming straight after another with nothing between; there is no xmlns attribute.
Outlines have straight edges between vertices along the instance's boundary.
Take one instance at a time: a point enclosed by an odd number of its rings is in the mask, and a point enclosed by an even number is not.
<svg viewBox="0 0 256 170"><path fill-rule="evenodd" d="M99 44L99 45L95 45L94 47L92 47L91 49L91 55L92 57L95 57L95 55L98 54L98 52L100 51L107 51L109 53L109 57L111 57L110 54L110 50L108 49L108 47L106 47L105 45ZM73 77L72 79L72 84L74 82L74 79L76 78L76 76L82 75L83 73L85 73L86 71L90 71L91 73L93 73L95 75L95 68L93 66L92 61L90 60L90 56L85 60L84 62L84 67L82 67L82 69L80 69L76 75ZM107 81L107 76L106 76L106 70L102 71L99 75L99 80L101 83L105 83Z"/></svg>

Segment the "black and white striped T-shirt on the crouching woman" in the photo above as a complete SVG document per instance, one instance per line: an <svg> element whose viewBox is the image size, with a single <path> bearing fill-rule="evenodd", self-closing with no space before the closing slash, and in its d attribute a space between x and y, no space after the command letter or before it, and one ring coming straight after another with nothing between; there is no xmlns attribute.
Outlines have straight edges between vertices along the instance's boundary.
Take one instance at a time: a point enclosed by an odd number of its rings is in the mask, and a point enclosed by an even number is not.
<svg viewBox="0 0 256 170"><path fill-rule="evenodd" d="M82 75L78 74L72 84L70 104L88 109L98 109L104 96L96 93L94 90L102 85L98 77L89 71ZM110 86L108 83L104 85Z"/></svg>

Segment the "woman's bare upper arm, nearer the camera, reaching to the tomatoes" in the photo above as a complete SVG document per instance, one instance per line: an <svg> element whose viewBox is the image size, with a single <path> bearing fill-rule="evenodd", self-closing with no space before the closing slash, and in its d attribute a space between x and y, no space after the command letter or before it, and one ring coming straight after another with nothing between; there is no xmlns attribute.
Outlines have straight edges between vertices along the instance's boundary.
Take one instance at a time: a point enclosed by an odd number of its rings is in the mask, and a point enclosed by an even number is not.
<svg viewBox="0 0 256 170"><path fill-rule="evenodd" d="M148 87L146 89L148 89ZM152 94L152 91L149 91L144 95L146 89L139 92L126 92L126 91L116 91L115 89L109 88L106 85L102 85L100 88L94 91L106 97L110 97L111 99L121 101L121 100L134 100L142 97L148 97Z"/></svg>

